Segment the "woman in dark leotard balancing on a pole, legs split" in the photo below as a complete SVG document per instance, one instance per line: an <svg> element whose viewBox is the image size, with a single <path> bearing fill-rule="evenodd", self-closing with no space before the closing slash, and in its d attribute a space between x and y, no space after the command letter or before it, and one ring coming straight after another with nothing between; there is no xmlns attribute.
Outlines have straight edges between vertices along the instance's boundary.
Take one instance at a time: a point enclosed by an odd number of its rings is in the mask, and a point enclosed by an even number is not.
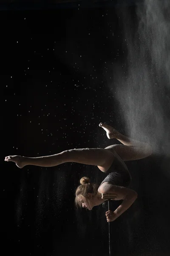
<svg viewBox="0 0 170 256"><path fill-rule="evenodd" d="M76 189L75 204L91 210L102 204L102 194L116 194L114 200L123 200L122 204L113 212L106 212L108 222L114 221L125 212L136 200L137 193L129 189L131 176L124 161L138 160L152 154L149 144L133 140L116 131L104 123L99 124L106 131L108 139L117 139L122 144L111 145L106 148L78 148L60 152L59 154L42 157L8 156L5 161L16 163L19 168L26 165L52 167L62 163L75 162L97 166L107 175L100 186L90 182L88 177L82 177L81 185Z"/></svg>

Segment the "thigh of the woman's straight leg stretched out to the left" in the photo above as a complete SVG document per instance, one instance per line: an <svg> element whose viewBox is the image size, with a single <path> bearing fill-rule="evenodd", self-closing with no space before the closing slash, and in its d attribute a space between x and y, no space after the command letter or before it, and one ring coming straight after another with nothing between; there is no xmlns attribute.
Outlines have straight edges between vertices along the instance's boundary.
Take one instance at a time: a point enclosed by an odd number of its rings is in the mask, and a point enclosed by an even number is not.
<svg viewBox="0 0 170 256"><path fill-rule="evenodd" d="M104 148L75 148L64 151L65 162L75 162L94 166L105 167L110 164L113 157L113 153Z"/></svg>

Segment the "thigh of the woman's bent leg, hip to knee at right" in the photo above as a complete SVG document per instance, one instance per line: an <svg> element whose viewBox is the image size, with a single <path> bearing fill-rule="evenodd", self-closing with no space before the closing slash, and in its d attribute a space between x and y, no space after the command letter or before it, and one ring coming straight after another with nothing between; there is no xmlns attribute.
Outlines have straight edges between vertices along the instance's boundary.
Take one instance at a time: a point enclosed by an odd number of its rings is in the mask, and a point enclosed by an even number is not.
<svg viewBox="0 0 170 256"><path fill-rule="evenodd" d="M107 148L113 149L123 161L139 160L150 156L150 149L126 146L121 144L111 145Z"/></svg>

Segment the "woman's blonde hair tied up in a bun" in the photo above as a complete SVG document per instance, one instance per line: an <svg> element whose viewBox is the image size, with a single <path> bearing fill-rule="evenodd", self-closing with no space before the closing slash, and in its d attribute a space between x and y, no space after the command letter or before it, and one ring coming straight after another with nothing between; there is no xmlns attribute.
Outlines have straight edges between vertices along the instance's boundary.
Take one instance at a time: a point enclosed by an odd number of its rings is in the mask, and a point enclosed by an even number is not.
<svg viewBox="0 0 170 256"><path fill-rule="evenodd" d="M88 177L82 177L80 180L80 184L76 189L76 198L75 198L75 205L76 207L81 207L82 203L81 200L85 200L89 198L88 193L91 193L92 196L97 195L98 185L94 183L90 183L90 179Z"/></svg>

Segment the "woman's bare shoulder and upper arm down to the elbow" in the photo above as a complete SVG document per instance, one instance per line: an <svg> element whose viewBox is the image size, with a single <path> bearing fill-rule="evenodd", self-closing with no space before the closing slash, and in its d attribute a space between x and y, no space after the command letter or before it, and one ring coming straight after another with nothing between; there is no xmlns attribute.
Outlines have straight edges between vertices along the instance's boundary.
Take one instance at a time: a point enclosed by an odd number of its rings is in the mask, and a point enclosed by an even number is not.
<svg viewBox="0 0 170 256"><path fill-rule="evenodd" d="M109 182L104 182L100 187L99 187L99 192L101 194L104 193L113 193L116 194L117 197L115 200L123 200L125 198L126 195L128 194L134 194L137 195L137 193L129 188L123 187L123 186L116 186L116 185L112 185Z"/></svg>

